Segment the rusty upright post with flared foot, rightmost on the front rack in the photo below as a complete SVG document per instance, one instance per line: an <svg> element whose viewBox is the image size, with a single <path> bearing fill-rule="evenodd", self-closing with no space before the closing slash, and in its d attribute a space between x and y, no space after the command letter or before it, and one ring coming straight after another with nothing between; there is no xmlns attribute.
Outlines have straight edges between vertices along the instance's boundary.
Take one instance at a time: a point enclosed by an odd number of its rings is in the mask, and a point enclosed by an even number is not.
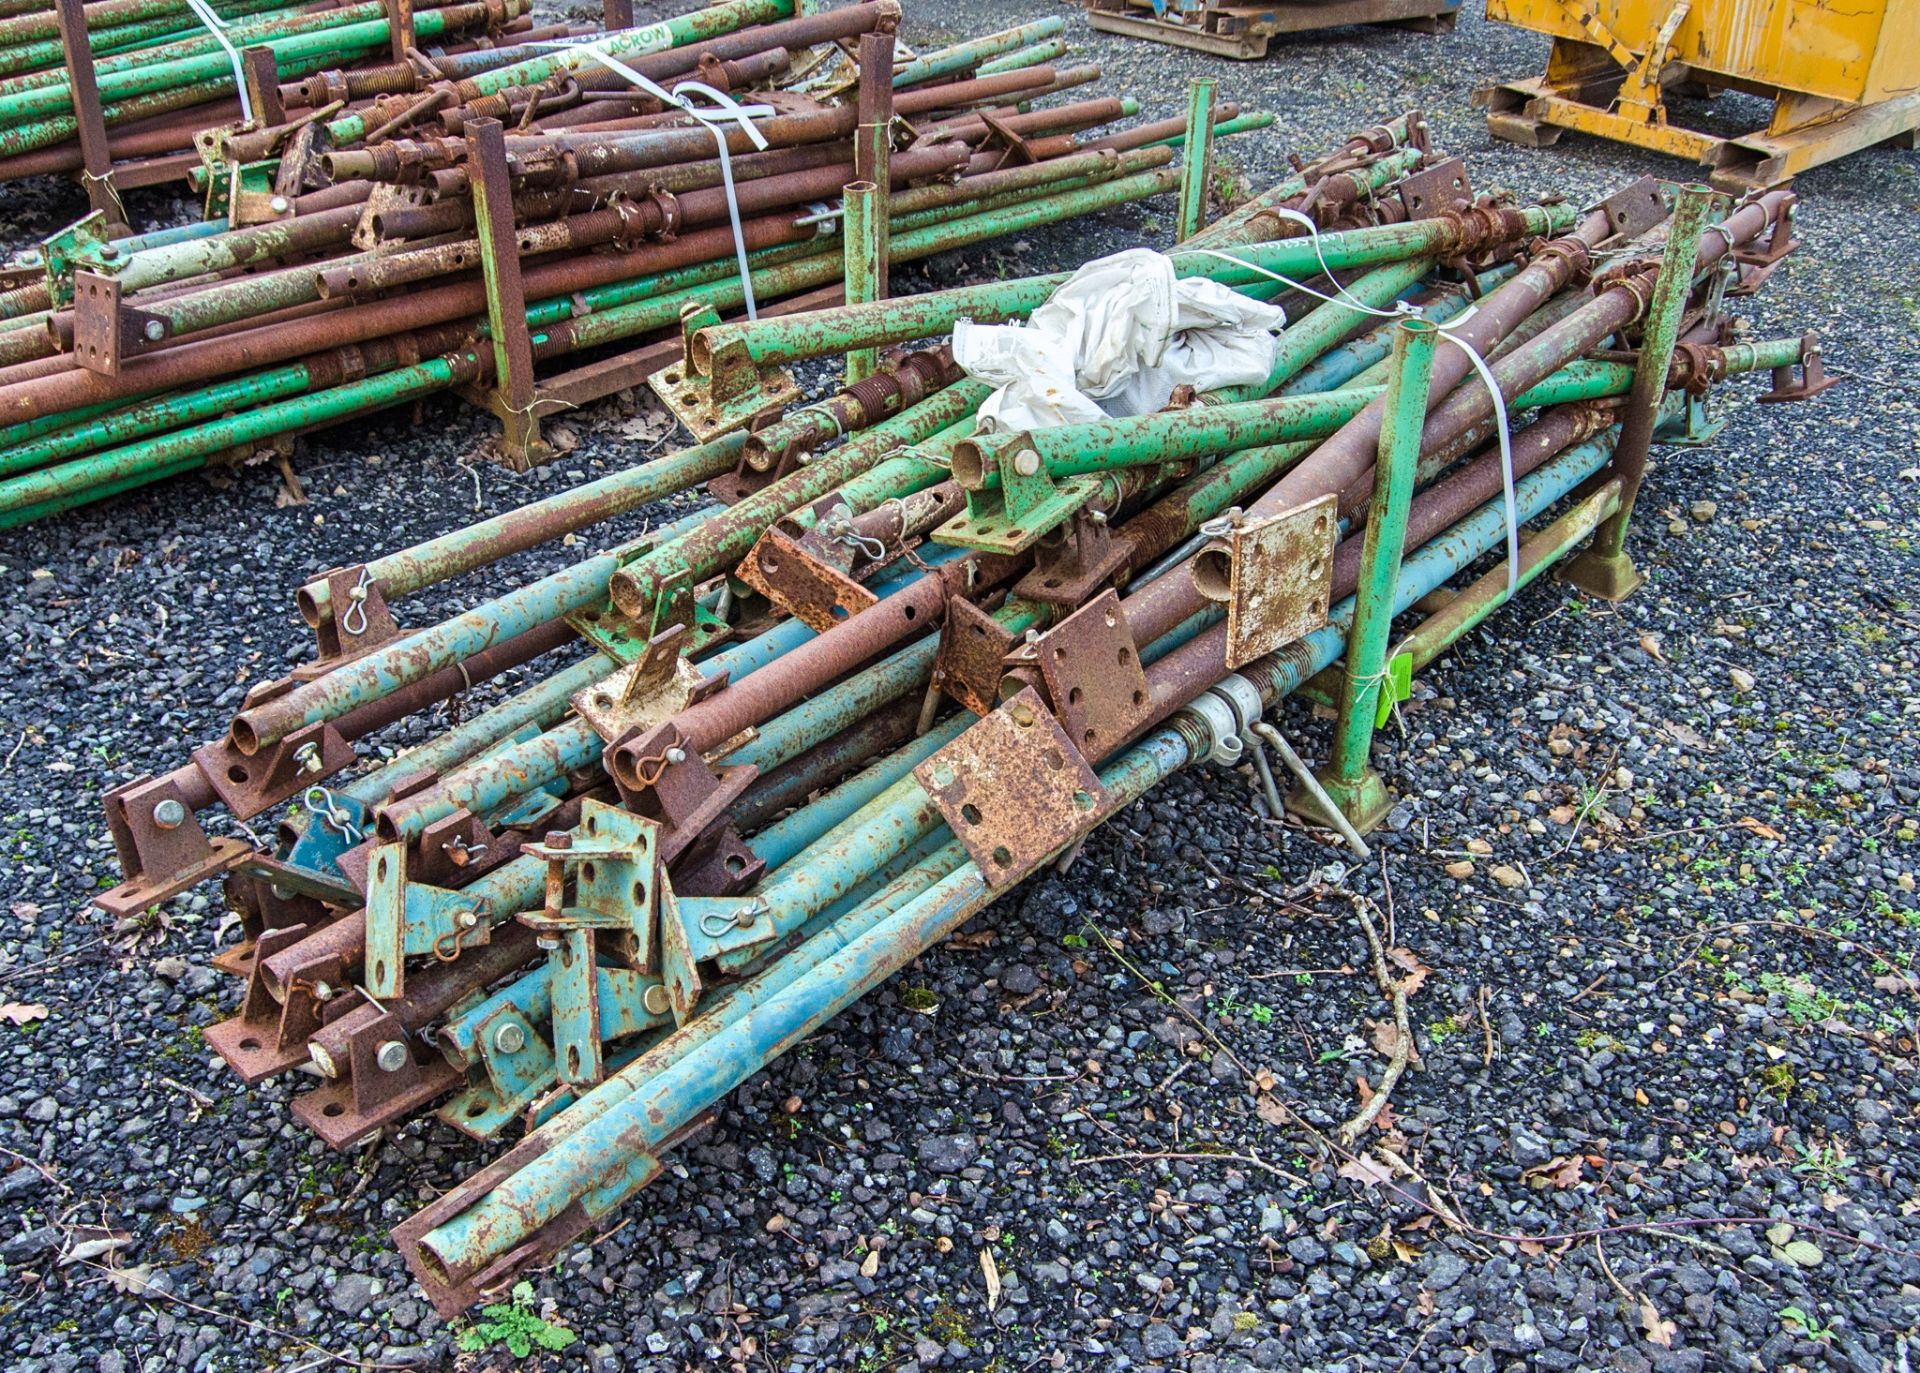
<svg viewBox="0 0 1920 1373"><path fill-rule="evenodd" d="M1667 394L1667 371L1672 367L1674 344L1680 342L1680 319L1693 294L1693 271L1699 261L1699 238L1713 213L1713 188L1688 186L1674 204L1667 225L1667 255L1647 301L1647 323L1640 336L1640 361L1634 367L1634 390L1626 396L1620 421L1620 442L1613 449L1613 470L1620 476L1620 509L1599 526L1594 543L1561 570L1571 582L1601 601L1624 601L1645 578L1626 555L1626 524L1634 515L1634 497L1647 474L1647 449L1659 422L1661 397Z"/></svg>

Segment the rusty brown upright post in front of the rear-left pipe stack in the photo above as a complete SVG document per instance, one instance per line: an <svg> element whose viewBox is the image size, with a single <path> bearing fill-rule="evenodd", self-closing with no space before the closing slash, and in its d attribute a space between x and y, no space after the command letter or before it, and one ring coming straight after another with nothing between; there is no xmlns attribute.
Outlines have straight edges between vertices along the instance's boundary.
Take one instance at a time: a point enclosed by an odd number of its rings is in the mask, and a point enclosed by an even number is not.
<svg viewBox="0 0 1920 1373"><path fill-rule="evenodd" d="M486 317L493 334L493 392L490 396L505 432L501 453L526 470L547 457L534 417L534 342L526 332L526 290L520 282L520 242L513 232L513 184L507 177L507 134L499 119L474 119L467 127L472 167L474 221L480 238L480 275L486 280Z"/></svg>

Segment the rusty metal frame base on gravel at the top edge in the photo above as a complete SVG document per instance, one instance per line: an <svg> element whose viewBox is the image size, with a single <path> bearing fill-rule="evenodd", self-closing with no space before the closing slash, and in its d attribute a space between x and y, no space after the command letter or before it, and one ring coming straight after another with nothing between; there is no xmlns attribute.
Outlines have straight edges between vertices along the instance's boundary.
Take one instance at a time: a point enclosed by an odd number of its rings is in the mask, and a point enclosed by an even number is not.
<svg viewBox="0 0 1920 1373"><path fill-rule="evenodd" d="M1087 23L1106 33L1175 42L1221 58L1258 60L1279 33L1392 23L1452 33L1459 0L1087 0Z"/></svg>

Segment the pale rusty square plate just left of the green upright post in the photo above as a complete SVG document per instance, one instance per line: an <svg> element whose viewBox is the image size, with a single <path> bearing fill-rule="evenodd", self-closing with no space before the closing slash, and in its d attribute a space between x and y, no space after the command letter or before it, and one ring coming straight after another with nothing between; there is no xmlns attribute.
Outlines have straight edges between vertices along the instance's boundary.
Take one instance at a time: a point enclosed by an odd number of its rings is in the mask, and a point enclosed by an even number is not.
<svg viewBox="0 0 1920 1373"><path fill-rule="evenodd" d="M1227 666L1300 639L1327 622L1338 499L1323 495L1227 530Z"/></svg>

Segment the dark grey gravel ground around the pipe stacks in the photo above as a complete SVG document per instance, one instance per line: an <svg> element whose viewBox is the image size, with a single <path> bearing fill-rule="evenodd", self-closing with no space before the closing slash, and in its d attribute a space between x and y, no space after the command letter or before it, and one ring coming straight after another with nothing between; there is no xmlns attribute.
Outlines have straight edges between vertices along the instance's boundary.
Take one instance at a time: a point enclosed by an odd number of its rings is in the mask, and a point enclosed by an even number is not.
<svg viewBox="0 0 1920 1373"><path fill-rule="evenodd" d="M958 35L1041 10L933 13ZM1258 65L1077 13L1069 33L1148 115L1200 69L1279 111L1229 144L1261 184L1407 104L1482 186L1584 198L1680 171L1592 140L1490 144L1467 92L1546 44L1478 17ZM1536 586L1425 674L1377 751L1402 803L1375 864L1275 824L1244 776L1175 778L728 1100L609 1237L536 1275L576 1338L524 1367L1905 1373L1920 1095L1916 997L1889 962L1920 924L1920 451L1899 380L1916 173L1872 152L1803 179L1809 250L1747 309L1763 332L1818 328L1847 384L1793 409L1730 388L1716 444L1659 457L1645 590L1605 609ZM17 240L81 209L63 186L0 194ZM931 275L1165 242L1169 217ZM415 1125L332 1156L286 1085L209 1062L198 1027L232 1002L207 966L217 899L115 935L86 906L115 872L98 795L303 657L301 574L630 461L620 422L595 413L574 453L515 478L461 463L488 422L430 405L309 442L305 507L276 509L250 469L0 542L12 1367L515 1363L459 1354L386 1241L480 1150ZM1288 728L1325 749L1304 705ZM1390 1020L1356 893L1390 912L1419 1047L1363 1162L1325 1143L1379 1081ZM1260 1110L1248 1073L1290 1110ZM75 1250L84 1227L129 1242Z"/></svg>

